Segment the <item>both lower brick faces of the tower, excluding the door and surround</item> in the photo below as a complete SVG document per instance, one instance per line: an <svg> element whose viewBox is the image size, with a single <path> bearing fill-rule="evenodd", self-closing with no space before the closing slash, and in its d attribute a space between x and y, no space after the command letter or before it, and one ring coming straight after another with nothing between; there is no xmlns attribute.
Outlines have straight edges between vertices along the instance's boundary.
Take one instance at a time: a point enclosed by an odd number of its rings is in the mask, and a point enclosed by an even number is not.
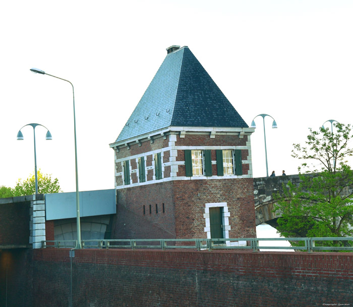
<svg viewBox="0 0 353 307"><path fill-rule="evenodd" d="M253 179L242 178L169 181L117 190L112 238L207 238L205 204L219 202L226 202L230 213L229 238L256 237Z"/></svg>

